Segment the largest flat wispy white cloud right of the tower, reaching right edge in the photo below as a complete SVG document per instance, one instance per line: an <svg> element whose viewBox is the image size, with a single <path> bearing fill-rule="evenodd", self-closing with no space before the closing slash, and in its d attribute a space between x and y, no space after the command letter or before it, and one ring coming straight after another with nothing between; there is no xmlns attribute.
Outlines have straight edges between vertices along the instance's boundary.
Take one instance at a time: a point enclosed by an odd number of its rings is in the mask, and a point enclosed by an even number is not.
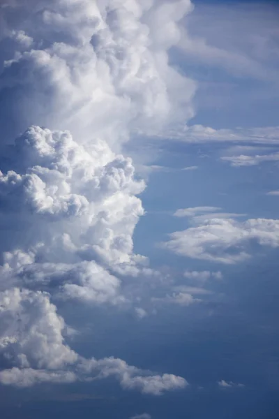
<svg viewBox="0 0 279 419"><path fill-rule="evenodd" d="M161 247L188 258L219 263L237 263L250 258L247 247L279 246L279 221L248 219L209 219L197 226L169 235Z"/></svg>

